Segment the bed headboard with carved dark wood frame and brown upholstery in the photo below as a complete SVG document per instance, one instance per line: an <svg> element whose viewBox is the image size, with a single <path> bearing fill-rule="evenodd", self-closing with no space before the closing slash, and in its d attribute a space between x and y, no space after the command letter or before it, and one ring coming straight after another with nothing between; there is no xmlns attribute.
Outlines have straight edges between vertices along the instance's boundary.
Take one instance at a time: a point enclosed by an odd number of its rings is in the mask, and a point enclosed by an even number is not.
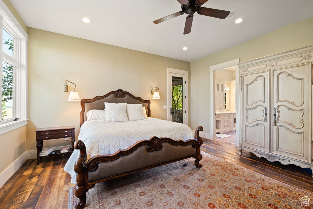
<svg viewBox="0 0 313 209"><path fill-rule="evenodd" d="M104 102L142 104L143 107L146 107L147 116L150 117L150 100L143 100L140 97L135 97L127 91L119 89L111 91L101 97L96 96L92 99L82 99L80 101L80 126L87 120L86 113L89 110L104 110Z"/></svg>

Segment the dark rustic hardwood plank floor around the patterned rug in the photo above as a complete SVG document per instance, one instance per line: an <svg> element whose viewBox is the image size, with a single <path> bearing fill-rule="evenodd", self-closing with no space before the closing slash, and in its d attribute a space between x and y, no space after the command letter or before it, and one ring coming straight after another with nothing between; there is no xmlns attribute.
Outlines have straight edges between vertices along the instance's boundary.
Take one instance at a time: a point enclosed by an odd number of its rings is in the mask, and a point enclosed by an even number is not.
<svg viewBox="0 0 313 209"><path fill-rule="evenodd" d="M269 162L253 154L241 156L233 144L203 138L202 151L313 194L310 169ZM63 168L69 154L27 160L0 188L0 208L67 208L70 175ZM200 161L201 162L201 161Z"/></svg>

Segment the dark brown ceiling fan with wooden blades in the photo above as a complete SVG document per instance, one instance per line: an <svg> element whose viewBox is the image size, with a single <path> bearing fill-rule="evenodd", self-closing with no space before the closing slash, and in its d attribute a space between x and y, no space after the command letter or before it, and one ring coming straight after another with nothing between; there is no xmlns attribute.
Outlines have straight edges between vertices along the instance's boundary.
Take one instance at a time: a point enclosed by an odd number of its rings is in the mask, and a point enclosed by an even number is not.
<svg viewBox="0 0 313 209"><path fill-rule="evenodd" d="M201 7L204 3L206 3L208 0L177 0L182 5L182 11L168 15L164 18L157 19L153 21L155 24L162 23L166 20L178 17L184 13L188 14L185 22L185 29L184 34L189 34L191 31L192 26L192 19L193 14L198 12L198 14L213 17L213 18L220 18L225 19L229 15L229 11L220 10L220 9L212 9L212 8L206 8Z"/></svg>

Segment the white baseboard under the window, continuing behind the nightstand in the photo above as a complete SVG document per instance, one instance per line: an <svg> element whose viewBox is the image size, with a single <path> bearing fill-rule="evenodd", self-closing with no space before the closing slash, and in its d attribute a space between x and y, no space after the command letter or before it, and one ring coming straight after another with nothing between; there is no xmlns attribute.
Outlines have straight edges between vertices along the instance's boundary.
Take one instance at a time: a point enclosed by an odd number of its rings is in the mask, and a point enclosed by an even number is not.
<svg viewBox="0 0 313 209"><path fill-rule="evenodd" d="M53 147L54 150L59 150L59 149L63 149L67 146L61 146L61 147ZM8 166L8 168L6 170L4 170L1 174L0 174L0 187L3 186L5 184L5 182L7 182L7 180L19 169L19 167L21 167L23 165L23 163L25 163L26 160L28 159L34 159L37 158L37 150L28 150L26 152L24 152L18 159L16 159L11 165Z"/></svg>

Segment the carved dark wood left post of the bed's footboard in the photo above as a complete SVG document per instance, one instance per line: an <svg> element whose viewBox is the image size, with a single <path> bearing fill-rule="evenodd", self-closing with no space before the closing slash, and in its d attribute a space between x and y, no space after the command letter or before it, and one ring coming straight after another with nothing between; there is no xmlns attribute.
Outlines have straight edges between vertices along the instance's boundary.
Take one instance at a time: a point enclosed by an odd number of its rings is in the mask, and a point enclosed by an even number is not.
<svg viewBox="0 0 313 209"><path fill-rule="evenodd" d="M95 185L87 186L87 168L84 167L84 162L87 159L87 152L84 142L77 140L74 143L74 149L79 149L80 151L80 155L74 165L74 171L77 173L77 186L74 187L74 194L79 198L75 208L82 209L85 207L87 200L86 192Z"/></svg>

